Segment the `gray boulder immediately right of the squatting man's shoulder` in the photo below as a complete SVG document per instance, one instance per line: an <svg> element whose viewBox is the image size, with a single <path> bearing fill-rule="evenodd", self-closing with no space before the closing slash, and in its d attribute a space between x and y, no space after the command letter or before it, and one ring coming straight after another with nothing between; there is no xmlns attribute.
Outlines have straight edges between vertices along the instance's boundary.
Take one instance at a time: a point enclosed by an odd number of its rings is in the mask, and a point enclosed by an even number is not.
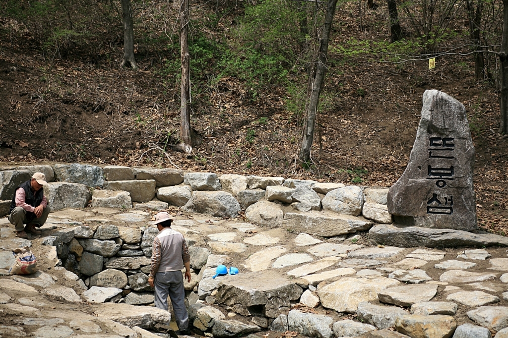
<svg viewBox="0 0 508 338"><path fill-rule="evenodd" d="M48 198L48 205L52 211L85 208L91 196L86 185L62 182L46 184L44 194Z"/></svg>

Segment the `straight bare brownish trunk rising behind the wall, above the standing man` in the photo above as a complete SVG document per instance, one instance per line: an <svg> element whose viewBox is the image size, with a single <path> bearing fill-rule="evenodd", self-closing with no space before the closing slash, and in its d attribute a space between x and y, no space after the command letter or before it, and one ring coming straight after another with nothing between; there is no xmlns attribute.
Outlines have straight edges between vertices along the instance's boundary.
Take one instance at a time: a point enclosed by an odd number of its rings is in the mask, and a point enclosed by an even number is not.
<svg viewBox="0 0 508 338"><path fill-rule="evenodd" d="M190 55L188 46L188 0L181 0L180 6L180 57L181 57L181 96L180 96L180 141L192 151L190 131Z"/></svg>

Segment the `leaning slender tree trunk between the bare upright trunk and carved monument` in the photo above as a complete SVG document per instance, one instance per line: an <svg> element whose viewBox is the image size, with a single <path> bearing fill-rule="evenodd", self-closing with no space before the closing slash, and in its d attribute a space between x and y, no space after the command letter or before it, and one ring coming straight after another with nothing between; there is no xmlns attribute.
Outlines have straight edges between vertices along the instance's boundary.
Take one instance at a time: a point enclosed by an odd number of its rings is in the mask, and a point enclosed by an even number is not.
<svg viewBox="0 0 508 338"><path fill-rule="evenodd" d="M307 120L305 121L302 139L302 148L300 151L300 160L305 163L308 163L310 161L310 147L312 146L312 139L314 137L314 125L317 112L317 105L319 104L319 95L321 92L321 86L325 78L326 61L328 54L328 42L330 40L330 31L332 30L333 15L335 14L336 6L337 0L328 0L325 14L323 37L320 42L319 59L317 61L315 77L314 80L312 81L310 99L307 107Z"/></svg>

